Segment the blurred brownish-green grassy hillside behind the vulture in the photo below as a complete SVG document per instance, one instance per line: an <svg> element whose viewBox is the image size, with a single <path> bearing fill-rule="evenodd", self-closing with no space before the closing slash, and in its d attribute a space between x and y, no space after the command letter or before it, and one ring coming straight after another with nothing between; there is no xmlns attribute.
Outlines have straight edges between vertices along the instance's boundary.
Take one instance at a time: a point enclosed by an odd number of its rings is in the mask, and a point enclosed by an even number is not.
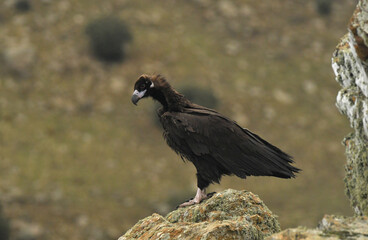
<svg viewBox="0 0 368 240"><path fill-rule="evenodd" d="M116 238L194 194L194 167L166 146L153 102L130 102L142 73L211 89L217 110L303 169L210 190L253 191L282 228L351 214L340 144L349 126L330 62L356 1L330 1L330 11L318 0L26 2L0 2L0 200L13 232ZM90 49L86 26L104 16L130 29L123 61Z"/></svg>

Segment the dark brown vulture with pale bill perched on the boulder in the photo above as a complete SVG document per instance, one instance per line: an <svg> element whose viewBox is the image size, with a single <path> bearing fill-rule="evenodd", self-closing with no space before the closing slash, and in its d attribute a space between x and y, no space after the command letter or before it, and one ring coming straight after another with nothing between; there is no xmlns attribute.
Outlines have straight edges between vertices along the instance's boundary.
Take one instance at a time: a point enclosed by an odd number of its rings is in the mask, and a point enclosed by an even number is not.
<svg viewBox="0 0 368 240"><path fill-rule="evenodd" d="M132 102L152 97L162 104L158 116L167 144L197 170L197 194L180 207L208 198L206 188L223 175L292 178L300 169L293 159L258 135L215 110L194 104L161 75L142 75Z"/></svg>

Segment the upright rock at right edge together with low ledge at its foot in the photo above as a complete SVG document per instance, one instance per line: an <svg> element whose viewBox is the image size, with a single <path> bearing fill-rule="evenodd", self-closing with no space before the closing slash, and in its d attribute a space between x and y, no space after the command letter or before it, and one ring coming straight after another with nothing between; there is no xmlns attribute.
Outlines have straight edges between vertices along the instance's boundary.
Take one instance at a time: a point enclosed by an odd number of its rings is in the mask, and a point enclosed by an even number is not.
<svg viewBox="0 0 368 240"><path fill-rule="evenodd" d="M347 156L344 181L358 216L326 215L315 229L286 229L267 240L368 239L368 0L358 3L349 32L333 54L332 68L342 87L336 106L354 129L343 140Z"/></svg>

